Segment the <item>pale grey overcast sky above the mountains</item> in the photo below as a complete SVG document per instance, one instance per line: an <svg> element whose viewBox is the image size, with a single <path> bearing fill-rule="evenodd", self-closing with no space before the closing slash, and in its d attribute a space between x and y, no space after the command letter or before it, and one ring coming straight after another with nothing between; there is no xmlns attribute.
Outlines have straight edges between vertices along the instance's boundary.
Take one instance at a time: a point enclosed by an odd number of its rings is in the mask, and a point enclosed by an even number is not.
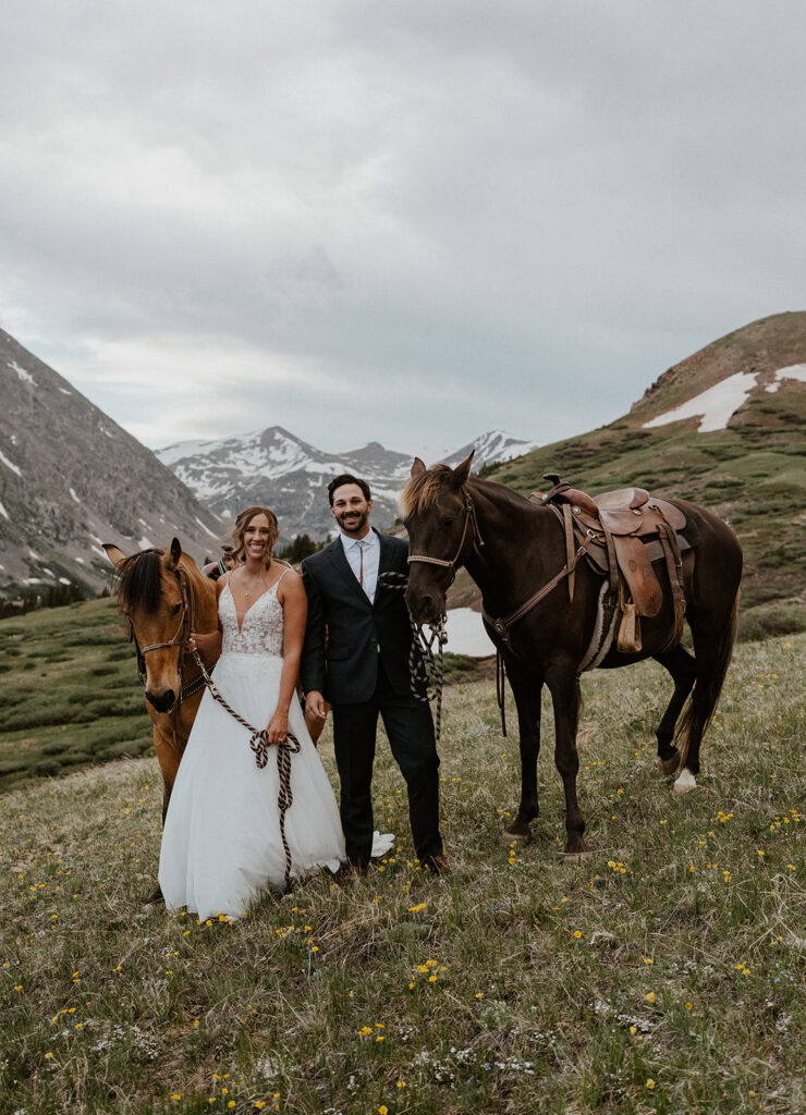
<svg viewBox="0 0 806 1115"><path fill-rule="evenodd" d="M6 0L0 327L145 444L541 442L806 308L797 0Z"/></svg>

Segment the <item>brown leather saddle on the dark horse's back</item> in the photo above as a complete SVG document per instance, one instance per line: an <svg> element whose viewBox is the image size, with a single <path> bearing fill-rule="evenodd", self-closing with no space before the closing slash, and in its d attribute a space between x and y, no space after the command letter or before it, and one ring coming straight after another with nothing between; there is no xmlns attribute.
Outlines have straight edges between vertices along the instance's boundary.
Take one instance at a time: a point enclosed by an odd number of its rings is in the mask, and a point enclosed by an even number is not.
<svg viewBox="0 0 806 1115"><path fill-rule="evenodd" d="M674 630L663 649L674 646L682 632L686 598L680 581L681 554L690 543L681 532L687 526L683 512L674 504L650 495L644 488L627 487L591 497L556 473L544 479L552 487L533 492L534 498L546 504L560 516L565 527L569 562L575 542L586 541L591 566L610 581L611 607L621 610L616 646L623 653L641 650L640 617L651 619L663 603L663 591L653 569L664 562L674 604ZM573 600L574 584L569 578Z"/></svg>

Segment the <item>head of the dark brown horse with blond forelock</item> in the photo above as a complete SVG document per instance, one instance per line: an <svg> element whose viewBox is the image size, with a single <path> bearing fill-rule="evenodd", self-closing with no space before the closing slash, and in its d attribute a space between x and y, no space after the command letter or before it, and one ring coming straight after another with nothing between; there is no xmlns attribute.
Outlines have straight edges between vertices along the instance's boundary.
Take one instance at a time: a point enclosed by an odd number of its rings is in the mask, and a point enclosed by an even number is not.
<svg viewBox="0 0 806 1115"><path fill-rule="evenodd" d="M409 535L406 604L416 623L437 623L446 613L445 595L456 570L474 545L473 505L465 488L473 453L456 468L426 468L419 457L400 495Z"/></svg>

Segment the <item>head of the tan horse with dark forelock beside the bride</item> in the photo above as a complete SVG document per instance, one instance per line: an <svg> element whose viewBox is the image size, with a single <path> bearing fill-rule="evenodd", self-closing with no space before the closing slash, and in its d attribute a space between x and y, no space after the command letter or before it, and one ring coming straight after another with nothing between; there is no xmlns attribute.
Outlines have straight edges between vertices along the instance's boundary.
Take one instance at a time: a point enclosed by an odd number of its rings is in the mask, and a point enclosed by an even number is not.
<svg viewBox="0 0 806 1115"><path fill-rule="evenodd" d="M132 624L146 697L157 712L173 707L182 688L181 662L190 633L192 591L178 539L168 550L142 550L126 558L104 545L117 570L117 599ZM184 578L184 583L183 583Z"/></svg>

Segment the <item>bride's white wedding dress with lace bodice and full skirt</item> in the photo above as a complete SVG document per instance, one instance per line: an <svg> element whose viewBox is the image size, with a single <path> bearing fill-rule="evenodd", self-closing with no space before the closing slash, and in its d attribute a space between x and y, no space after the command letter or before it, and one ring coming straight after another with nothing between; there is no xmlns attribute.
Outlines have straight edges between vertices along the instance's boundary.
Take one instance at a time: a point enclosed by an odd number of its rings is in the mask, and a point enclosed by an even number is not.
<svg viewBox="0 0 806 1115"><path fill-rule="evenodd" d="M229 584L219 597L223 644L215 685L255 728L269 724L280 691L280 580L246 611L241 629ZM289 730L300 741L291 756L293 803L285 814L292 878L317 867L336 872L346 859L339 809L295 699ZM219 913L236 918L266 889L284 890L278 753L272 747L259 769L250 736L205 690L165 817L159 885L168 910L187 906L202 920ZM385 854L392 841L376 840L373 853Z"/></svg>

